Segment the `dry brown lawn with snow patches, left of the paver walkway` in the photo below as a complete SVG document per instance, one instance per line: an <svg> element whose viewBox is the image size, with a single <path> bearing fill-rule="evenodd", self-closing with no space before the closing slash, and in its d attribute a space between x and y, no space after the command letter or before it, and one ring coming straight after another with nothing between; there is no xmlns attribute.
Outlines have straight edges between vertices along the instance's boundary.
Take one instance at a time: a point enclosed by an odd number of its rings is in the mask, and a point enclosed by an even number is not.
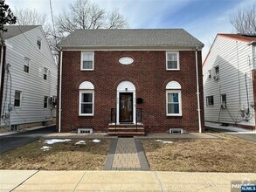
<svg viewBox="0 0 256 192"><path fill-rule="evenodd" d="M101 170L107 157L111 140L92 140L85 145L75 145L78 140L45 144L44 140L33 141L0 154L0 169L38 170ZM51 147L41 150L43 146Z"/></svg>

